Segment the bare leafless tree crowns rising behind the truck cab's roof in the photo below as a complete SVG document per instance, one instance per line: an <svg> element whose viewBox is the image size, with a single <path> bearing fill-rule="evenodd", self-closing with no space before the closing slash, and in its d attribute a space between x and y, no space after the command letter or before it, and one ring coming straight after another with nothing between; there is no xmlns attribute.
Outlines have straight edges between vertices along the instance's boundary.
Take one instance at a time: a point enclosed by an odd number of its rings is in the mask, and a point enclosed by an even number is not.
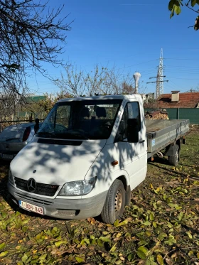
<svg viewBox="0 0 199 265"><path fill-rule="evenodd" d="M130 72L124 73L124 69L120 70L115 66L109 69L95 65L92 71L87 72L77 70L75 65L70 64L54 83L60 87L62 95L72 97L135 92L133 75Z"/></svg>

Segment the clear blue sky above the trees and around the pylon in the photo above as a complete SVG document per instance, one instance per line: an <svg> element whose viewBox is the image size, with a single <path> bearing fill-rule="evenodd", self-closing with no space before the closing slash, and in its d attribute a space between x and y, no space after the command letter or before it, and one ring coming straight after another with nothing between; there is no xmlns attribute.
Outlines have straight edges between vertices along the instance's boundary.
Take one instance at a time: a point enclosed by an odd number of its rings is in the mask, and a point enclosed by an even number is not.
<svg viewBox="0 0 199 265"><path fill-rule="evenodd" d="M98 63L130 72L141 73L144 92L155 92L156 84L149 77L157 75L161 48L164 93L186 92L199 84L199 32L193 26L196 13L183 8L180 16L169 18L168 0L50 0L49 6L65 4L70 13L67 45L62 58L89 72ZM61 69L47 66L53 77ZM154 81L156 81L154 79ZM59 88L40 75L28 80L35 94L56 92Z"/></svg>

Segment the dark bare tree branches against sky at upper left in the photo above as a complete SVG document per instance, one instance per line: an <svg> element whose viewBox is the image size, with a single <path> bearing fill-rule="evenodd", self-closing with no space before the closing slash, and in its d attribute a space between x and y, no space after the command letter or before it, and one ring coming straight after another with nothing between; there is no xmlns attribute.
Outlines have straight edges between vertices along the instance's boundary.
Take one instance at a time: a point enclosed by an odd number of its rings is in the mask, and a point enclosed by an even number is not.
<svg viewBox="0 0 199 265"><path fill-rule="evenodd" d="M44 63L63 64L66 33L70 24L63 6L48 9L48 1L0 0L0 92L1 97L28 92L30 72L48 73Z"/></svg>

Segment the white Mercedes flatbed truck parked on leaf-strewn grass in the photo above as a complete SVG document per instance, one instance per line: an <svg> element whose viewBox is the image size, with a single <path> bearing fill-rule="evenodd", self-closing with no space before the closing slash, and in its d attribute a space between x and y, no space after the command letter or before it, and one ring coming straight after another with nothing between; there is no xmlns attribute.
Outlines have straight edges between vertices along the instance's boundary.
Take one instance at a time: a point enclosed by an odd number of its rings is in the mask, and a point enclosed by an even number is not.
<svg viewBox="0 0 199 265"><path fill-rule="evenodd" d="M176 166L188 130L188 120L145 123L139 94L62 99L11 161L9 193L41 215L112 224L146 178L147 159L164 151Z"/></svg>

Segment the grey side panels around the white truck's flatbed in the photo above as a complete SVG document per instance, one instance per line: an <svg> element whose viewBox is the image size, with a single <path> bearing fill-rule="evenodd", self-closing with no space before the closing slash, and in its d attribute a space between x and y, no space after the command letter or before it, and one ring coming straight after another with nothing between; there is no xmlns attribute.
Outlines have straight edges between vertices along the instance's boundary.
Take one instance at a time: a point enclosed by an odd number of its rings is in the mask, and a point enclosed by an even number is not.
<svg viewBox="0 0 199 265"><path fill-rule="evenodd" d="M160 120L161 121L161 120ZM168 120L166 120L168 121ZM189 121L188 120L172 120L168 126L163 126L163 129L158 129L161 123L156 123L157 131L149 132L149 127L147 129L147 151L149 153L154 153L160 150L161 146L167 146L173 143L189 131ZM176 123L174 122L176 121ZM162 123L163 124L163 123ZM166 123L164 123L166 124ZM150 128L151 129L151 128ZM154 128L155 129L155 128Z"/></svg>

